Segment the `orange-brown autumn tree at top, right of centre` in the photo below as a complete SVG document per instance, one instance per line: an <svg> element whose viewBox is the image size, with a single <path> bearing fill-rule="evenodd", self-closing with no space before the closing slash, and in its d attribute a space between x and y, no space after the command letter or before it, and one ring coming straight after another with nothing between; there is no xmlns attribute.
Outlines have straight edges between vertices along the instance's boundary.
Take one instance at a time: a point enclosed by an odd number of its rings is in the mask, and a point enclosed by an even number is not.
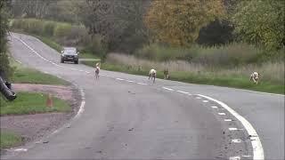
<svg viewBox="0 0 285 160"><path fill-rule="evenodd" d="M199 29L224 16L222 0L155 0L145 23L159 42L192 44Z"/></svg>

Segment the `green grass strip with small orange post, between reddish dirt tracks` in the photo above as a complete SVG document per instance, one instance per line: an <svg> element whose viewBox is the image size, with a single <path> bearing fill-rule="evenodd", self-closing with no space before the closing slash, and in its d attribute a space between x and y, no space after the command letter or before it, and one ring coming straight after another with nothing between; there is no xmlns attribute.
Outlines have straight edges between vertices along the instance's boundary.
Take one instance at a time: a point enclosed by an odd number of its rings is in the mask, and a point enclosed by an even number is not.
<svg viewBox="0 0 285 160"><path fill-rule="evenodd" d="M27 115L47 112L69 112L68 102L53 97L53 108L46 107L47 95L34 92L18 92L17 99L5 101L0 97L0 115Z"/></svg>

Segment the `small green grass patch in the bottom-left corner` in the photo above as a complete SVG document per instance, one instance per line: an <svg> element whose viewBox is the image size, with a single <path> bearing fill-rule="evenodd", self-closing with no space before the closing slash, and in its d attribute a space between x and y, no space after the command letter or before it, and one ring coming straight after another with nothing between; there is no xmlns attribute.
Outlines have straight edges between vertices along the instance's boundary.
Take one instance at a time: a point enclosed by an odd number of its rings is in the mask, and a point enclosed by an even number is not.
<svg viewBox="0 0 285 160"><path fill-rule="evenodd" d="M12 148L19 146L22 143L21 137L18 134L7 131L0 131L0 149Z"/></svg>

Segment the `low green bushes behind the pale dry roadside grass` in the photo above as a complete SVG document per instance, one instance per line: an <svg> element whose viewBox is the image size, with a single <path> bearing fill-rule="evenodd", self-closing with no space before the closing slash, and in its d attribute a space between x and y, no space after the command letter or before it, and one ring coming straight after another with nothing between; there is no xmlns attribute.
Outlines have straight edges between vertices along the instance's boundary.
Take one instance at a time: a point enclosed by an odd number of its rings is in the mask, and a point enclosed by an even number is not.
<svg viewBox="0 0 285 160"><path fill-rule="evenodd" d="M233 43L214 47L192 45L190 48L151 44L137 50L134 55L147 60L184 60L207 66L235 66L255 63L262 53L262 50L250 44Z"/></svg>

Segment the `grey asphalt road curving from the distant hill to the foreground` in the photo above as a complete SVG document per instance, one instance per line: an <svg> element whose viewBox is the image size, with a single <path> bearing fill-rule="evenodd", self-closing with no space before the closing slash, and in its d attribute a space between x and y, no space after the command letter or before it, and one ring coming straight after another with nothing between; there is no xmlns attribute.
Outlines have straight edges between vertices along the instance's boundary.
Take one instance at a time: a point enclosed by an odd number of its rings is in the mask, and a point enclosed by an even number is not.
<svg viewBox="0 0 285 160"><path fill-rule="evenodd" d="M16 60L76 84L83 99L69 124L2 158L284 159L283 95L106 70L95 81L93 68L61 64L35 37L10 44Z"/></svg>

